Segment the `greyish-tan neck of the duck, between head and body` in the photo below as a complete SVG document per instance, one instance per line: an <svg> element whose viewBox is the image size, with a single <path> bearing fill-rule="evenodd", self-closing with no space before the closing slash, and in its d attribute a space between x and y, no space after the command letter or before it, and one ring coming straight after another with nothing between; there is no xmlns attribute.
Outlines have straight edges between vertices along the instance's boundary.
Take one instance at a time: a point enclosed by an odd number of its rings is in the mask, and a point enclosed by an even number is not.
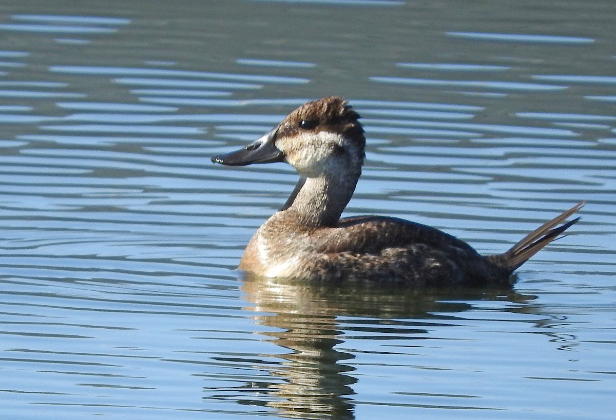
<svg viewBox="0 0 616 420"><path fill-rule="evenodd" d="M361 171L347 176L301 177L278 212L307 227L333 227L351 200Z"/></svg>

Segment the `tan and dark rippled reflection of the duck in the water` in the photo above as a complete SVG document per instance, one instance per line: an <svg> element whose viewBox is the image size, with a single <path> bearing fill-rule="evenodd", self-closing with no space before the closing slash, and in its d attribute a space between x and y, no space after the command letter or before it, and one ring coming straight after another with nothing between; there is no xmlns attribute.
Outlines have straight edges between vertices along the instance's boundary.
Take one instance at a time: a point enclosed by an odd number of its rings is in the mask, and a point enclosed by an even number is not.
<svg viewBox="0 0 616 420"><path fill-rule="evenodd" d="M426 328L443 325L455 318L453 313L471 308L470 303L460 301L532 299L511 289L418 291L383 285L314 285L280 278L244 280L246 300L254 304L247 309L258 313L254 319L259 323L275 328L275 332L262 334L288 350L274 355L283 360L269 372L270 379L278 381L259 386L267 397L249 403L275 408L278 416L286 418L354 419L351 395L357 378L352 374L355 368L345 363L354 355L336 349L344 343L345 332L376 337L394 331L408 339L426 339ZM345 320L341 326L339 320L344 316L358 319ZM363 322L361 317L372 319ZM394 322L394 318L404 320Z"/></svg>

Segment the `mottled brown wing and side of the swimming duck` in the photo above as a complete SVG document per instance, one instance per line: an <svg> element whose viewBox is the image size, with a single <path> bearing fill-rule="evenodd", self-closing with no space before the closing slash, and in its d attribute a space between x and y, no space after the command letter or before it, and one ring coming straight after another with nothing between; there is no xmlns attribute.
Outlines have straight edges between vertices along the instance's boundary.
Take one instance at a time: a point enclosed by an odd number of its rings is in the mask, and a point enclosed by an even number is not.
<svg viewBox="0 0 616 420"><path fill-rule="evenodd" d="M367 280L408 286L484 285L504 273L467 243L436 228L392 217L341 219L310 234L315 254L301 273L323 281Z"/></svg>

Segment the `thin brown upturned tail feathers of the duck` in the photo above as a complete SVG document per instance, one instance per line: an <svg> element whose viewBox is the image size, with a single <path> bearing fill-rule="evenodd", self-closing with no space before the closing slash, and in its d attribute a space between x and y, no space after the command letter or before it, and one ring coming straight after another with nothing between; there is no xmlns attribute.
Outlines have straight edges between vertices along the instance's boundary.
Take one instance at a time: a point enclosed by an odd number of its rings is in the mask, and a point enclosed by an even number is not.
<svg viewBox="0 0 616 420"><path fill-rule="evenodd" d="M527 262L530 257L541 251L544 246L557 239L562 232L565 232L565 230L577 223L580 217L562 224L565 220L569 219L569 216L582 208L584 203L584 201L580 201L580 203L575 204L575 206L563 212L560 216L545 222L545 224L530 232L504 254L493 255L488 258L498 267L513 273L520 265Z"/></svg>

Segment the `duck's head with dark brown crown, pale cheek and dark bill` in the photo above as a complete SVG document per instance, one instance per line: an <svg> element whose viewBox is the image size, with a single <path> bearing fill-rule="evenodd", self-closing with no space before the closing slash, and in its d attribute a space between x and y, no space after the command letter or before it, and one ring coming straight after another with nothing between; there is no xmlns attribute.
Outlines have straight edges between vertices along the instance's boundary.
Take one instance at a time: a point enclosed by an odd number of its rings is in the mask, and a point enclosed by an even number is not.
<svg viewBox="0 0 616 420"><path fill-rule="evenodd" d="M305 177L360 171L366 139L359 118L339 97L310 101L255 142L212 161L229 166L287 162Z"/></svg>

